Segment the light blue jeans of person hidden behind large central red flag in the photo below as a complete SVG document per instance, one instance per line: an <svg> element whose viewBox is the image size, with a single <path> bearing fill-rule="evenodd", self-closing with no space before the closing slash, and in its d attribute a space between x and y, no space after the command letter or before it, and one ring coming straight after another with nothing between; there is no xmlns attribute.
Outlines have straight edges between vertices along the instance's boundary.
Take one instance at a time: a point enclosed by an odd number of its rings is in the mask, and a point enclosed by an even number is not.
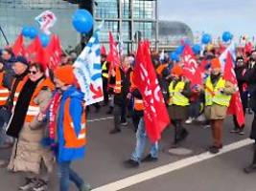
<svg viewBox="0 0 256 191"><path fill-rule="evenodd" d="M148 136L146 134L145 130L145 122L143 117L141 117L138 130L136 133L136 147L131 154L131 159L135 161L140 161L142 159L142 155L145 150L146 142L148 141ZM151 143L151 157L152 158L158 158L158 142Z"/></svg>

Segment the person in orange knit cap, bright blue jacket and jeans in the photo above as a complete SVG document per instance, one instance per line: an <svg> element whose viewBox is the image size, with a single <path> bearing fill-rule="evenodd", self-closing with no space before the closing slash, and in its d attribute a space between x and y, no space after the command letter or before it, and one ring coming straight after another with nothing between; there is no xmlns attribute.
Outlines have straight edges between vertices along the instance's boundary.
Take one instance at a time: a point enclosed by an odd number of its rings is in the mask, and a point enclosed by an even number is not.
<svg viewBox="0 0 256 191"><path fill-rule="evenodd" d="M80 191L91 190L81 177L71 169L71 163L83 159L86 145L86 118L84 94L76 87L73 67L61 66L56 69L55 83L60 90L57 120L57 161L59 168L59 190L68 191L73 181Z"/></svg>

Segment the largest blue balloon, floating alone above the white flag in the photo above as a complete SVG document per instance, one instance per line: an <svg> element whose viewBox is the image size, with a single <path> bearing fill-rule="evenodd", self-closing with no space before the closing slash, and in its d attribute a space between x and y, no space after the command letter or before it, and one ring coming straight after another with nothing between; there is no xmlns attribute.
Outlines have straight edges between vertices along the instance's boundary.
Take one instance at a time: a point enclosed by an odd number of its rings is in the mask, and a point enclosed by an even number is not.
<svg viewBox="0 0 256 191"><path fill-rule="evenodd" d="M87 33L92 30L93 17L89 11L78 10L73 15L72 24L77 32Z"/></svg>

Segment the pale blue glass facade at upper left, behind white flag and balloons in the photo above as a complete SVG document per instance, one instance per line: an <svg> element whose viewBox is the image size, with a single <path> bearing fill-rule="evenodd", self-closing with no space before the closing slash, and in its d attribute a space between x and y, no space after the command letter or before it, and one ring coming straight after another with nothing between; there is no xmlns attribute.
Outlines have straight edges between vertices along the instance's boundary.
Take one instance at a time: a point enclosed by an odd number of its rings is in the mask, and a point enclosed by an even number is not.
<svg viewBox="0 0 256 191"><path fill-rule="evenodd" d="M0 0L0 26L12 43L23 26L39 28L35 16L42 11L53 11L58 21L51 31L60 36L64 48L75 47L80 41L80 36L72 27L72 14L77 9L78 5L62 0ZM5 39L0 34L0 46L4 45Z"/></svg>

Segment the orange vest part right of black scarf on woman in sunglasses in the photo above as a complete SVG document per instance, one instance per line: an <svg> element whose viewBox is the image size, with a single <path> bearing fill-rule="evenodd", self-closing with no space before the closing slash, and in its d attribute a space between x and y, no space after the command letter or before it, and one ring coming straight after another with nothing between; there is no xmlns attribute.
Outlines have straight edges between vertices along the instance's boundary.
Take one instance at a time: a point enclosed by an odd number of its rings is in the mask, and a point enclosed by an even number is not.
<svg viewBox="0 0 256 191"><path fill-rule="evenodd" d="M45 78L37 84L35 92L30 101L27 115L25 117L25 122L32 122L34 118L40 113L40 107L38 104L35 103L34 99L35 96L38 96L43 87L48 87L51 91L53 91L55 86L50 78Z"/></svg>

